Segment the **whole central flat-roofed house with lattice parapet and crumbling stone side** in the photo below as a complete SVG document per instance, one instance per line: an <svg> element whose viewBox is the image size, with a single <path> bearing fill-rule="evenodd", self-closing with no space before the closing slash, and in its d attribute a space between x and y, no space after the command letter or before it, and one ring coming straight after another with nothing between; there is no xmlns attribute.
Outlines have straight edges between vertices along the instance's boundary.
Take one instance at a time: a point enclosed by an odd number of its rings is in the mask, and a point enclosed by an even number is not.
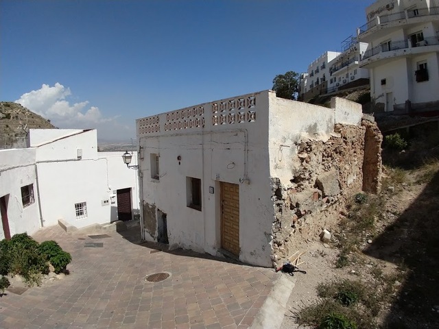
<svg viewBox="0 0 439 329"><path fill-rule="evenodd" d="M317 63L327 57L314 80ZM381 142L361 117L345 99L323 108L265 90L137 119L143 239L281 263L333 205L377 188Z"/></svg>

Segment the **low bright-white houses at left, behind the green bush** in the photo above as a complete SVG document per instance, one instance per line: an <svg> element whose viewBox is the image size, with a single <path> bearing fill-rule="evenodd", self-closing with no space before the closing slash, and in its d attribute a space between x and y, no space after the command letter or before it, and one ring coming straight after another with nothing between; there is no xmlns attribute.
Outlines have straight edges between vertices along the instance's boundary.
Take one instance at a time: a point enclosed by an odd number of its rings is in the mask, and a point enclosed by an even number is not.
<svg viewBox="0 0 439 329"><path fill-rule="evenodd" d="M136 155L136 154L134 154ZM96 130L30 130L29 147L0 150L0 239L58 219L76 228L139 216L137 172L97 151Z"/></svg>

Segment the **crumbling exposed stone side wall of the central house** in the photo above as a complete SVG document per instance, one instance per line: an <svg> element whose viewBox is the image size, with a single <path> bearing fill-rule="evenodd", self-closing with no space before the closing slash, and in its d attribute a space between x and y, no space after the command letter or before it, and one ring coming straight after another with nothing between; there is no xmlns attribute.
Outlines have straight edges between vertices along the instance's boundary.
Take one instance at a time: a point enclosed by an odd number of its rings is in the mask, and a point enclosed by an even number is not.
<svg viewBox="0 0 439 329"><path fill-rule="evenodd" d="M333 226L346 200L361 188L372 192L379 189L382 136L376 123L364 120L361 126L337 124L334 131L326 142L307 139L296 143L289 183L272 178L275 267L300 249L303 241Z"/></svg>

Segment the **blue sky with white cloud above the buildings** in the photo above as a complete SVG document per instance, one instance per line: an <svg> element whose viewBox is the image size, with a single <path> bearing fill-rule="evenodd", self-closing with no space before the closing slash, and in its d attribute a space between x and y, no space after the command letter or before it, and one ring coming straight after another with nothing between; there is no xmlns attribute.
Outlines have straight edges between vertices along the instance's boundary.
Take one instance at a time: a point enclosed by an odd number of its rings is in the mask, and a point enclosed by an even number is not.
<svg viewBox="0 0 439 329"><path fill-rule="evenodd" d="M372 2L1 0L0 100L129 140L137 118L306 71L340 50Z"/></svg>

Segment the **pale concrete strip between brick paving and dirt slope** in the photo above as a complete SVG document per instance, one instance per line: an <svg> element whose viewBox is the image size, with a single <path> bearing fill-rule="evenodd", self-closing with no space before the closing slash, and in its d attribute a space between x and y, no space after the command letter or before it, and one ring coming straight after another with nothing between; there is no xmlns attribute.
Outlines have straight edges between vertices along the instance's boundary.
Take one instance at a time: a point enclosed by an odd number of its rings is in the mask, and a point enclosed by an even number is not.
<svg viewBox="0 0 439 329"><path fill-rule="evenodd" d="M287 310L289 295L296 285L296 277L281 273L273 284L273 289L254 317L251 329L280 328Z"/></svg>

